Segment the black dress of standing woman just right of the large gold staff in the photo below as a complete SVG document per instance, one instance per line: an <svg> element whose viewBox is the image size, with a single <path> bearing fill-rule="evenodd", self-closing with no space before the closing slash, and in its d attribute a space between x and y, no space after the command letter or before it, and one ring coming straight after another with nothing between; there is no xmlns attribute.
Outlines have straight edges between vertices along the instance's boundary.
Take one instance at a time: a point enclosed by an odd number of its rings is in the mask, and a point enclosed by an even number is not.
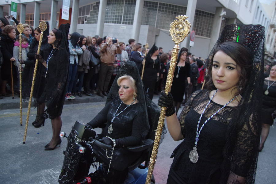
<svg viewBox="0 0 276 184"><path fill-rule="evenodd" d="M178 72L179 68L179 72ZM177 78L178 74L178 78ZM186 88L186 79L191 76L190 63L185 63L184 67L178 67L176 64L174 70L174 79L171 86L171 94L175 102L182 102Z"/></svg>

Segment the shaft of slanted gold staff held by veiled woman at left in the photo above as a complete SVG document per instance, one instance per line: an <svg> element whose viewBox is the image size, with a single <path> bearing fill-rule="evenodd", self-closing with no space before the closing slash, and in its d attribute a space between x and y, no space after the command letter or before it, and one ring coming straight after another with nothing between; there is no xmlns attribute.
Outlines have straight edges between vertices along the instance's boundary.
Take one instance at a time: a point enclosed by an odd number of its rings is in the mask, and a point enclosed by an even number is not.
<svg viewBox="0 0 276 184"><path fill-rule="evenodd" d="M38 43L38 48L37 48L37 53L38 54L40 52L42 37L43 37L43 32L41 31L40 38L39 38L39 43ZM35 84L35 79L36 79L37 64L38 64L38 59L36 59L36 63L35 63L34 71L33 71L33 81L32 81L32 87L31 87L31 93L30 93L30 99L29 99L29 105L28 105L27 120L26 120L26 125L25 125L23 144L25 144L25 142L26 142L27 129L28 129L28 123L29 123L29 117L30 117L30 110L31 110L32 98L33 98L33 86Z"/></svg>

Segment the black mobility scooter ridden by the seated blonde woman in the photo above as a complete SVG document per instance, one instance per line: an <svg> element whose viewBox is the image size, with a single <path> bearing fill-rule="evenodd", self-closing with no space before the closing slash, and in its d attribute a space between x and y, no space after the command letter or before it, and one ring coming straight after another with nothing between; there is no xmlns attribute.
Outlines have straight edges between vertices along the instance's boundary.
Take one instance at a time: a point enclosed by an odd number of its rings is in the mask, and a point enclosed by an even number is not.
<svg viewBox="0 0 276 184"><path fill-rule="evenodd" d="M93 129L86 127L79 121L75 122L69 136L61 132L60 137L67 138L68 144L66 150L63 151L65 156L58 182L60 184L104 183L104 178L101 178L101 174L98 172L88 174L90 164L87 163L91 163L89 160L94 153L94 145L106 150L110 150L112 147L100 142L98 140L99 134L96 135ZM131 152L141 152L141 156L128 166L128 178L123 184L145 183L152 147L153 140L151 139L144 140L143 145L127 147ZM154 177L152 177L151 183L155 183Z"/></svg>

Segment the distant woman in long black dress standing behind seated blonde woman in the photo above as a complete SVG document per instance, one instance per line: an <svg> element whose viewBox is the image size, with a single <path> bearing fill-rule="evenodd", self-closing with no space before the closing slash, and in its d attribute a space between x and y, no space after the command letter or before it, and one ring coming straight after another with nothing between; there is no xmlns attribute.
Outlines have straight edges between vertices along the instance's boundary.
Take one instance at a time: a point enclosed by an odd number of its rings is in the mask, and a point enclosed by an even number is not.
<svg viewBox="0 0 276 184"><path fill-rule="evenodd" d="M153 44L149 50L146 60L145 60L145 69L143 75L143 83L148 95L148 98L152 100L153 92L156 81L159 79L160 71L160 59L159 59L159 48Z"/></svg>

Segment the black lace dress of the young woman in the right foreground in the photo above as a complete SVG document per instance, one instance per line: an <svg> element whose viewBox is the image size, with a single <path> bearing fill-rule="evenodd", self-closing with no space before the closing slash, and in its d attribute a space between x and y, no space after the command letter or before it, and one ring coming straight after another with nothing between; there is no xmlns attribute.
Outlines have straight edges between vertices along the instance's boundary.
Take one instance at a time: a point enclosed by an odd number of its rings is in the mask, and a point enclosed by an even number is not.
<svg viewBox="0 0 276 184"><path fill-rule="evenodd" d="M185 139L173 151L174 160L167 183L225 184L230 170L239 176L247 176L248 168L252 162L251 144L254 144L253 140L255 140L254 135L252 136L249 132L250 130L243 127L238 131L237 143L232 145L232 158L225 158L228 132L230 127L235 125L234 117L238 107L226 106L207 122L202 128L197 143L199 159L197 163L192 163L189 159L189 153L195 144L197 122L210 100L209 92L209 90L195 91L179 116L182 135ZM199 128L222 106L211 102L201 119Z"/></svg>

